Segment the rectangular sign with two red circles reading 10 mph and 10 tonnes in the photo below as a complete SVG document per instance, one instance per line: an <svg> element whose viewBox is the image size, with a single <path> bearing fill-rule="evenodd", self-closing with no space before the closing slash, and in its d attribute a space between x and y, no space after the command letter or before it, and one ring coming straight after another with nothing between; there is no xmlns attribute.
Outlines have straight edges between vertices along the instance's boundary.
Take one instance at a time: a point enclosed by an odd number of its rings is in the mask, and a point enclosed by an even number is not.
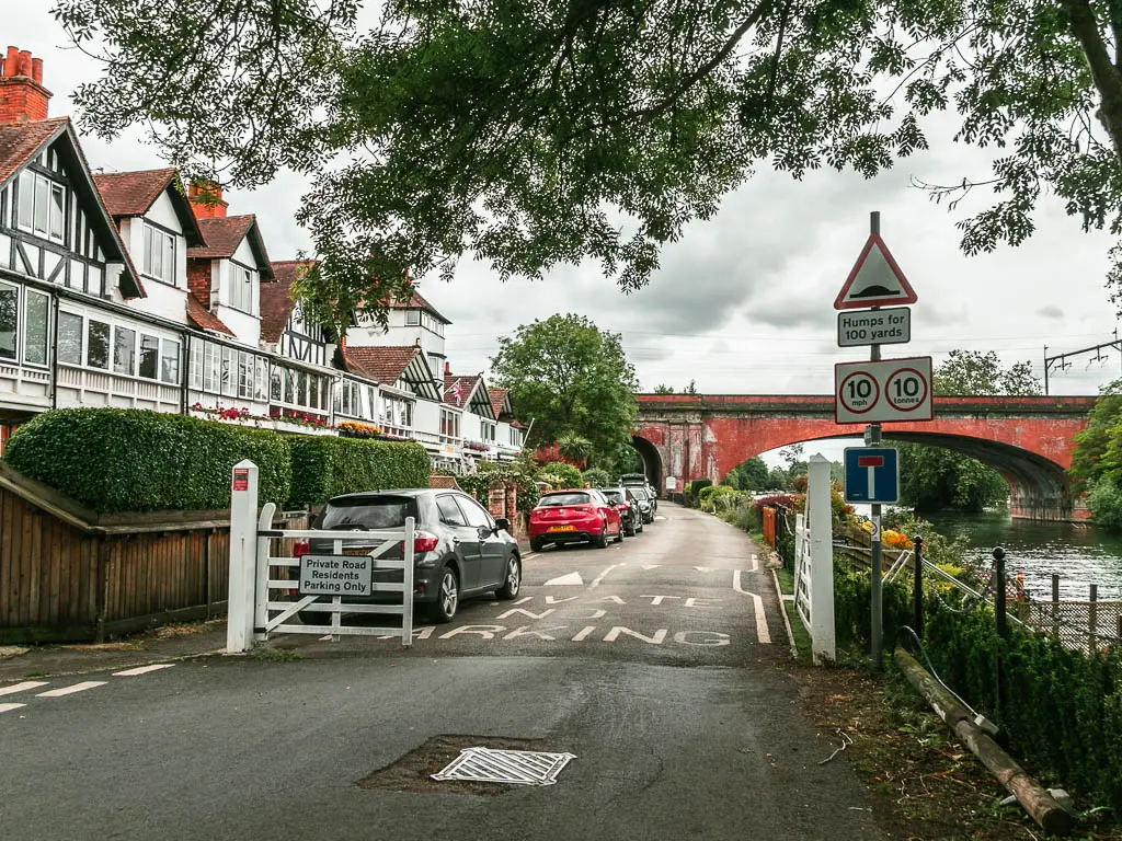
<svg viewBox="0 0 1122 841"><path fill-rule="evenodd" d="M834 412L839 424L931 420L931 358L834 366Z"/></svg>

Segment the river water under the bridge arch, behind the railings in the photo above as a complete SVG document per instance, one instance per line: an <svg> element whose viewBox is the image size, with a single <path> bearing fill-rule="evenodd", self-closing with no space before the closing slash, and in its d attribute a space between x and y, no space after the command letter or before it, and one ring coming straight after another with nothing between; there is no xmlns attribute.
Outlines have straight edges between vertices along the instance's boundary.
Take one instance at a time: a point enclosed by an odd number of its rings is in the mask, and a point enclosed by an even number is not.
<svg viewBox="0 0 1122 841"><path fill-rule="evenodd" d="M1100 599L1122 599L1122 535L1091 525L1037 523L1008 514L936 514L927 519L947 537L964 537L984 567L994 546L1005 549L1010 579L1024 573L1024 586L1037 599L1051 598L1051 576L1060 576L1060 599L1086 600L1089 585Z"/></svg>

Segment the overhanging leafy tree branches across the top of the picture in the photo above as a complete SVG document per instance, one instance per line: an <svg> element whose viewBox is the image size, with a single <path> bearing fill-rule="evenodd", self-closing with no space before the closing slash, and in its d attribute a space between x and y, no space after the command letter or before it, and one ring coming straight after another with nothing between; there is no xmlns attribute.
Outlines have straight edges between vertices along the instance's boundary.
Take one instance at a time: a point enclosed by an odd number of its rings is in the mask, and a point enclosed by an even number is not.
<svg viewBox="0 0 1122 841"><path fill-rule="evenodd" d="M1106 0L54 8L104 50L74 94L89 128L141 124L171 161L238 186L313 174L318 252L373 255L377 277L473 252L503 277L591 258L636 287L754 170L872 177L927 148L939 111L955 141L999 150L977 182L927 185L993 202L959 223L967 252L1031 235L1045 194L1122 229L1122 6Z"/></svg>

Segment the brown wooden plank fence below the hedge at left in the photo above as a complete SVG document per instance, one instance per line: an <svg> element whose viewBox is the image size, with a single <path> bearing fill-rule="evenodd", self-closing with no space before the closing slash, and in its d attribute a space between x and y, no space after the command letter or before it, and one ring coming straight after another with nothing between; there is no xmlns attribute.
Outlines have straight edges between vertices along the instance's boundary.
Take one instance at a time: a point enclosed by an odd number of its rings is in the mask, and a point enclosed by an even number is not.
<svg viewBox="0 0 1122 841"><path fill-rule="evenodd" d="M306 524L300 512L277 527ZM99 516L0 463L0 643L222 614L229 528L228 511Z"/></svg>

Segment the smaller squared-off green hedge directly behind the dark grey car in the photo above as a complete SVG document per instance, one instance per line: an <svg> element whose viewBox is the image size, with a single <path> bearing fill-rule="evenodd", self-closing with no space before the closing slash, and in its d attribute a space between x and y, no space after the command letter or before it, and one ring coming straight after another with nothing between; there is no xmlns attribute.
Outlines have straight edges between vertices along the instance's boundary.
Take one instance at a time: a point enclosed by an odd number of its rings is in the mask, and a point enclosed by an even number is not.
<svg viewBox="0 0 1122 841"><path fill-rule="evenodd" d="M311 435L292 440L289 507L321 505L339 493L427 487L429 455L420 444Z"/></svg>

